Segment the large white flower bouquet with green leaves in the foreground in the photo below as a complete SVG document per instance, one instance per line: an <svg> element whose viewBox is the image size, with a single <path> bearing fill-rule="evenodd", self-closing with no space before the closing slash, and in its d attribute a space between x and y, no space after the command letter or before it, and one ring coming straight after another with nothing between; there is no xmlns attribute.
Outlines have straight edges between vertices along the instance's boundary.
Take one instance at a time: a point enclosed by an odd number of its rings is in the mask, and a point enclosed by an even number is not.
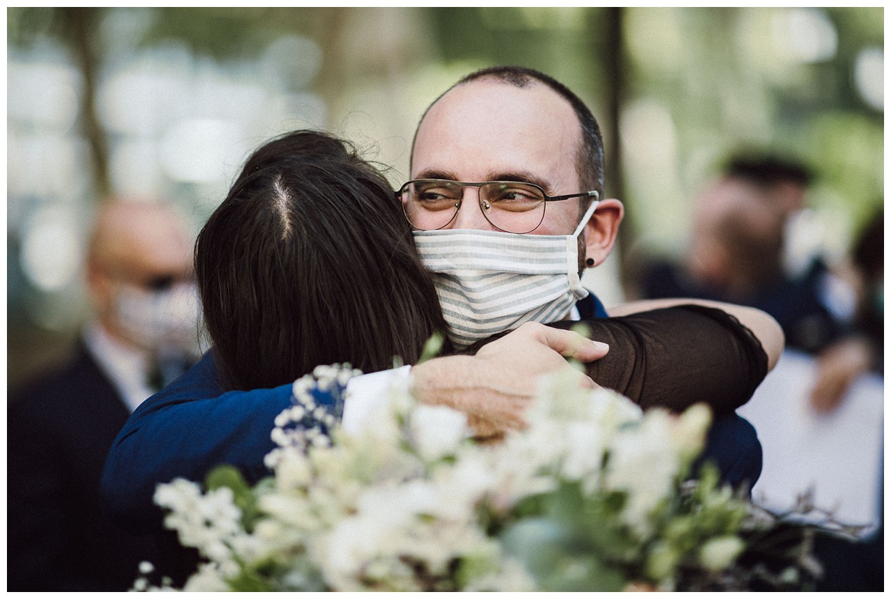
<svg viewBox="0 0 891 599"><path fill-rule="evenodd" d="M802 529L787 537L708 465L689 478L705 406L643 413L555 374L527 428L484 445L401 382L347 434L312 391L352 373L294 383L256 486L226 466L203 489L159 485L166 526L202 557L184 590L797 589L814 574Z"/></svg>

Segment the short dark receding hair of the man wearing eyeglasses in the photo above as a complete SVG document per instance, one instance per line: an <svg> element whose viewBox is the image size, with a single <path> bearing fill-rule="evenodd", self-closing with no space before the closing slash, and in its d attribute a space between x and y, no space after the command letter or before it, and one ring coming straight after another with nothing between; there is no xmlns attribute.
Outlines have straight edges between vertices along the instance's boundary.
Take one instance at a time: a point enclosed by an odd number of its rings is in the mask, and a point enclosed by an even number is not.
<svg viewBox="0 0 891 599"><path fill-rule="evenodd" d="M509 86L520 88L529 86L533 81L538 81L550 87L565 99L572 106L573 111L576 112L576 118L582 131L582 144L578 152L576 152L576 173L579 181L583 185L584 190L597 190L603 197L603 137L601 136L601 127L597 124L597 119L594 118L591 109L582 102L581 98L567 86L560 83L560 81L545 75L541 71L516 66L487 67L486 69L474 71L470 75L461 78L454 86L449 87L440 94L433 103L430 103L418 122L418 128L421 128L421 122L427 117L430 108L444 95L457 86L483 78L495 79ZM415 130L414 136L417 139L417 130ZM412 143L412 154L414 154L414 142ZM582 201L586 203L586 199Z"/></svg>

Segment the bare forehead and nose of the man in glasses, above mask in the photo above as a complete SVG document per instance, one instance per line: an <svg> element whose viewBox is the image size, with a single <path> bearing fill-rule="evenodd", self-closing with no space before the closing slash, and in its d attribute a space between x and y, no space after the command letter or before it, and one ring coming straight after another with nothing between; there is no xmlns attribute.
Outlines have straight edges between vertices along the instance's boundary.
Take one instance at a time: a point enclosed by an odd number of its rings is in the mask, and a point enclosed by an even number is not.
<svg viewBox="0 0 891 599"><path fill-rule="evenodd" d="M549 87L519 88L492 79L457 86L421 121L413 179L522 181L548 195L583 190L576 172L581 127L569 103ZM548 202L533 234L571 234L578 200ZM497 231L483 216L477 189L464 188L461 209L446 228Z"/></svg>

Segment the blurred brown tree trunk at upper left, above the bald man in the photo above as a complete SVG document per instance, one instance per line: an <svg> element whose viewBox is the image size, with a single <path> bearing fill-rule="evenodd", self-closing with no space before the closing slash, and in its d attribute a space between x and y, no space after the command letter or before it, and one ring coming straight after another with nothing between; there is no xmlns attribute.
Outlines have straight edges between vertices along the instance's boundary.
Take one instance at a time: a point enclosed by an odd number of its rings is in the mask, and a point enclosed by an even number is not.
<svg viewBox="0 0 891 599"><path fill-rule="evenodd" d="M111 193L109 177L109 152L105 131L96 115L96 87L98 85L99 52L98 22L101 9L59 8L59 21L62 37L68 42L75 61L83 75L83 89L80 96L80 123L90 147L93 163L94 188L100 201Z"/></svg>

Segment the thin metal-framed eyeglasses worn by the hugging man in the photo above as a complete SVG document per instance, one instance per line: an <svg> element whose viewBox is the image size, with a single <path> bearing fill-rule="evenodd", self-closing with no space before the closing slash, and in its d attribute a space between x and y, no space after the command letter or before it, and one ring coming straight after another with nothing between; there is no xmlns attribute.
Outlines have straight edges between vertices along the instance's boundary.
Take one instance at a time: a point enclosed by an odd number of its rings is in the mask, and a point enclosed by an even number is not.
<svg viewBox="0 0 891 599"><path fill-rule="evenodd" d="M506 233L526 234L544 221L544 209L549 201L570 198L593 198L596 191L548 195L532 183L519 181L485 181L467 183L446 179L415 179L396 192L408 222L421 231L445 228L461 209L464 187L476 187L479 208L486 220Z"/></svg>

